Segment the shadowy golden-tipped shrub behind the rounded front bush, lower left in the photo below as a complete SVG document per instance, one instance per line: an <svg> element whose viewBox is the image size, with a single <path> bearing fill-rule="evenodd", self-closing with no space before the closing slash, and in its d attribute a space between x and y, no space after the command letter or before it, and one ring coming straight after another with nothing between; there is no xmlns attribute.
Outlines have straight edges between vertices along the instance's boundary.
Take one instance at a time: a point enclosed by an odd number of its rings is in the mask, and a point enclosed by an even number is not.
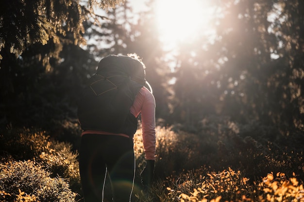
<svg viewBox="0 0 304 202"><path fill-rule="evenodd" d="M2 156L2 162L12 159L39 162L51 177L60 176L69 182L73 191L80 191L78 154L71 152L70 143L50 139L46 131L23 128L2 131L0 145L7 154Z"/></svg>

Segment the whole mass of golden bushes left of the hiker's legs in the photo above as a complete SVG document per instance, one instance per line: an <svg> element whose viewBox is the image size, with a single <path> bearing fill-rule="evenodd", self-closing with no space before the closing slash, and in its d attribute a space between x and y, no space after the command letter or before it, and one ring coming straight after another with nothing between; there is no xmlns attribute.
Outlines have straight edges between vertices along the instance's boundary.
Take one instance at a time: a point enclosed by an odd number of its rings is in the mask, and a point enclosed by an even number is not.
<svg viewBox="0 0 304 202"><path fill-rule="evenodd" d="M0 202L74 202L79 197L77 153L46 131L0 133Z"/></svg>

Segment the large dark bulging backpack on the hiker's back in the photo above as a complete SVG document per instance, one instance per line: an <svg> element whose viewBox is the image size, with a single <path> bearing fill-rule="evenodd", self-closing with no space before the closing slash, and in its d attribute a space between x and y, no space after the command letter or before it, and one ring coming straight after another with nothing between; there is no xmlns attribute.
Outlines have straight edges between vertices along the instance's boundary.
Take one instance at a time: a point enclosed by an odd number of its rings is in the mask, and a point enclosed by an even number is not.
<svg viewBox="0 0 304 202"><path fill-rule="evenodd" d="M117 55L103 58L78 103L77 116L82 129L133 137L137 117L130 108L145 83L145 67L137 59Z"/></svg>

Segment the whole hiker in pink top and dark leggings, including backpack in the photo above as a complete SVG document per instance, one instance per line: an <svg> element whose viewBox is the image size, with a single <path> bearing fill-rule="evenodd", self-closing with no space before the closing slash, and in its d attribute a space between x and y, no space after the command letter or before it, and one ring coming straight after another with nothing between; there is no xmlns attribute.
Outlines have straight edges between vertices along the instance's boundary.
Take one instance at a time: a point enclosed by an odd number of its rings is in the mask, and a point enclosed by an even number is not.
<svg viewBox="0 0 304 202"><path fill-rule="evenodd" d="M152 182L155 161L155 100L144 87L145 65L136 54L103 58L78 105L83 129L79 170L85 202L131 202L135 180L133 135L141 114L146 167ZM107 178L108 177L108 178ZM109 179L111 194L105 192Z"/></svg>

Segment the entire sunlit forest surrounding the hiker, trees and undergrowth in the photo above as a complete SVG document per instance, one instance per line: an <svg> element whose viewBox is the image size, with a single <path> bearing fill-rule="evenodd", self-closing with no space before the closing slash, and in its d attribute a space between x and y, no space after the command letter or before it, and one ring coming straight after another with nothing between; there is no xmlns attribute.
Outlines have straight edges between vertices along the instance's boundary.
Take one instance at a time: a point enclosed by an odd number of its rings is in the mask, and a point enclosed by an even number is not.
<svg viewBox="0 0 304 202"><path fill-rule="evenodd" d="M80 89L128 53L147 67L157 125L143 192L138 121L134 202L304 202L304 1L136 3L1 3L0 202L84 202Z"/></svg>

